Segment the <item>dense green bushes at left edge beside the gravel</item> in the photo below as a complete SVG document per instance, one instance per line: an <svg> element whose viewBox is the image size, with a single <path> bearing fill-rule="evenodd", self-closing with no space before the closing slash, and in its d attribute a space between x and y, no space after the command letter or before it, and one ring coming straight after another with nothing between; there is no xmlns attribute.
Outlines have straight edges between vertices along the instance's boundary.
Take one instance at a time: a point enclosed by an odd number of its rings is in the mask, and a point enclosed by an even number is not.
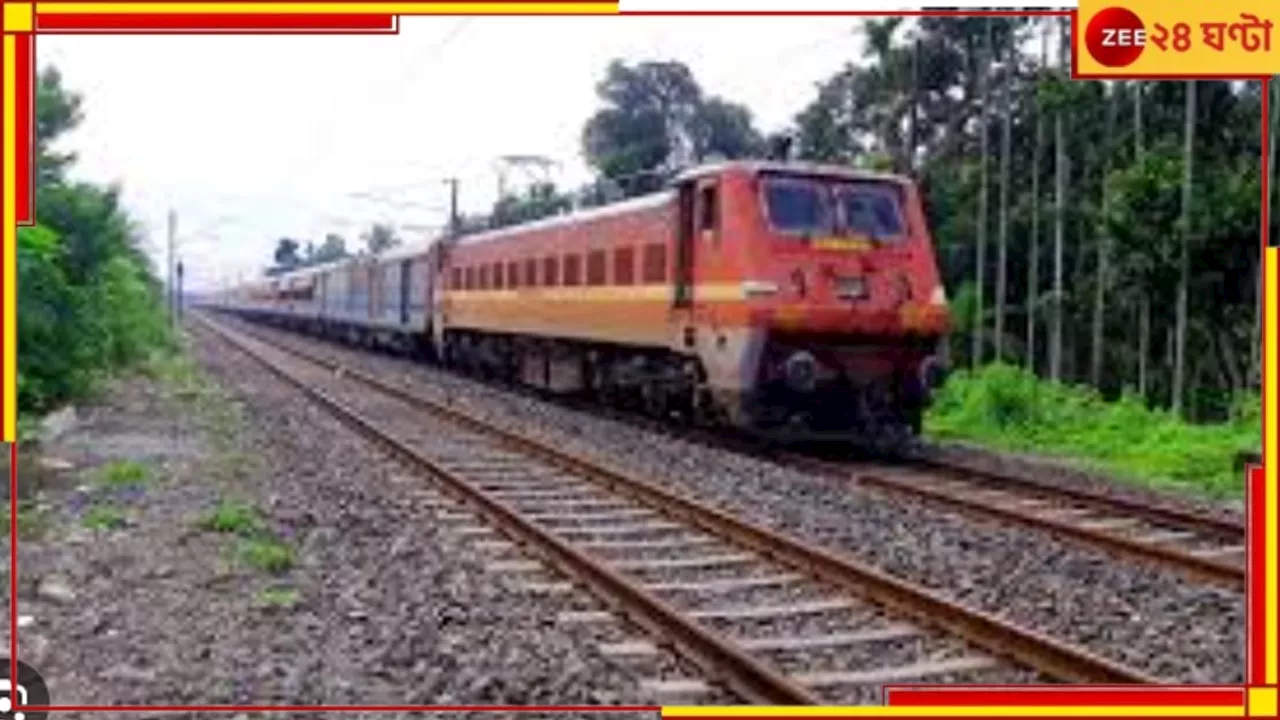
<svg viewBox="0 0 1280 720"><path fill-rule="evenodd" d="M68 181L72 156L50 150L79 122L78 109L56 72L40 76L40 224L18 229L17 249L19 414L81 398L172 341L163 290L119 192Z"/></svg>

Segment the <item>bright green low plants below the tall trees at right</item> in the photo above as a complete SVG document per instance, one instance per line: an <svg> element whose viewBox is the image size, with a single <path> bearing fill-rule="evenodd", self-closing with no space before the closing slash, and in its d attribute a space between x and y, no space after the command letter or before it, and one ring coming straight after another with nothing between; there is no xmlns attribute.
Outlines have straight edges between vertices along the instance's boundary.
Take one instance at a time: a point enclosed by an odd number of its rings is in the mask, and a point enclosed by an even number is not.
<svg viewBox="0 0 1280 720"><path fill-rule="evenodd" d="M955 373L925 418L925 433L995 450L1073 460L1124 479L1212 497L1240 497L1240 451L1258 451L1261 404L1238 400L1220 424L1189 424L1140 398L1105 401L1091 388L1042 380L1010 365Z"/></svg>

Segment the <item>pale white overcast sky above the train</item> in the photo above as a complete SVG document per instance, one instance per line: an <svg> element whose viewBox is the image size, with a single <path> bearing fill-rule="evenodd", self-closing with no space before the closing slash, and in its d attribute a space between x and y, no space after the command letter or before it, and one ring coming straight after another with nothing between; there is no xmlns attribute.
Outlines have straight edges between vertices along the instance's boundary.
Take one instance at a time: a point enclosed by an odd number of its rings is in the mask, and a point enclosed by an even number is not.
<svg viewBox="0 0 1280 720"><path fill-rule="evenodd" d="M858 22L406 18L371 37L41 36L37 61L84 97L64 143L76 174L123 184L157 260L174 208L196 288L259 272L282 236L355 247L374 220L438 225L447 176L483 211L499 155L548 155L563 183L585 181L581 129L613 58L681 60L762 129L783 127L860 54ZM370 190L401 206L349 197Z"/></svg>

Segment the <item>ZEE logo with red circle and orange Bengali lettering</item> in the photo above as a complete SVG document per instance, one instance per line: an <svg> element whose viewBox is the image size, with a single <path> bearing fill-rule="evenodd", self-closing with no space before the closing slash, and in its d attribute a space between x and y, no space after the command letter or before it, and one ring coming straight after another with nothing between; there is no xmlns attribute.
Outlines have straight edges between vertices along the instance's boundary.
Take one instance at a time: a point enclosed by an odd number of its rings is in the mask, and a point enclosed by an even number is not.
<svg viewBox="0 0 1280 720"><path fill-rule="evenodd" d="M1236 44L1245 53L1271 50L1271 20L1261 20L1257 15L1240 13L1239 22L1196 23L1201 44L1219 53L1226 50L1228 42ZM1142 56L1147 45L1153 45L1162 53L1187 53L1196 40L1189 23L1174 23L1165 27L1152 23L1151 29L1137 13L1126 8L1107 8L1089 19L1084 29L1084 46L1089 55L1108 68L1132 65Z"/></svg>

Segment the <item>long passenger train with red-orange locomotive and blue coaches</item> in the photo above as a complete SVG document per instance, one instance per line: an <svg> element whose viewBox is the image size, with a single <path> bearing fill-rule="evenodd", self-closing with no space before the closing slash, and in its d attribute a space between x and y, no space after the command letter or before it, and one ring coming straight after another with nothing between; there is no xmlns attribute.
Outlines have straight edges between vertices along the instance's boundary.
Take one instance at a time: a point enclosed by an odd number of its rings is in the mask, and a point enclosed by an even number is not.
<svg viewBox="0 0 1280 720"><path fill-rule="evenodd" d="M882 450L919 437L951 329L910 178L773 160L206 305L673 423Z"/></svg>

